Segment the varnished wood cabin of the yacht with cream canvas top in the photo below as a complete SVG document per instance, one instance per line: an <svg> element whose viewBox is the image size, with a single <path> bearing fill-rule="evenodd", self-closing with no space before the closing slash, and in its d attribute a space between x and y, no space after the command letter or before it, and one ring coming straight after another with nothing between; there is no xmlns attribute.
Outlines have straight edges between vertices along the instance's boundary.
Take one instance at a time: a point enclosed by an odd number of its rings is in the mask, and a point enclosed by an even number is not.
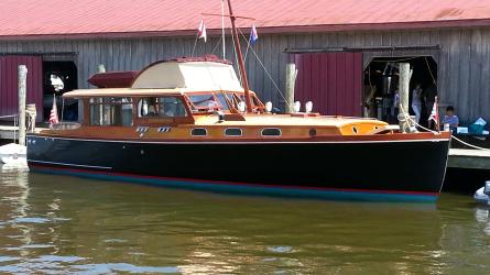
<svg viewBox="0 0 490 275"><path fill-rule="evenodd" d="M253 91L250 96L252 112L247 112L243 88L227 61L206 57L159 62L143 69L130 88L66 92L64 98L83 101L81 125L54 125L48 133L144 140L294 140L375 134L392 129L372 119L305 111L274 114Z"/></svg>

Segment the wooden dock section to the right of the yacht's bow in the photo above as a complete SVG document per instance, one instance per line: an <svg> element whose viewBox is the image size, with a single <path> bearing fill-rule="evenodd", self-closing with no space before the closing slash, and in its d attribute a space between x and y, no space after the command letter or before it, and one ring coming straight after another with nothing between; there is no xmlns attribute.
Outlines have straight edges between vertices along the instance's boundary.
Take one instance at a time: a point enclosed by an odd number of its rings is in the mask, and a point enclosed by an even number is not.
<svg viewBox="0 0 490 275"><path fill-rule="evenodd" d="M447 167L490 170L490 150L450 148Z"/></svg>

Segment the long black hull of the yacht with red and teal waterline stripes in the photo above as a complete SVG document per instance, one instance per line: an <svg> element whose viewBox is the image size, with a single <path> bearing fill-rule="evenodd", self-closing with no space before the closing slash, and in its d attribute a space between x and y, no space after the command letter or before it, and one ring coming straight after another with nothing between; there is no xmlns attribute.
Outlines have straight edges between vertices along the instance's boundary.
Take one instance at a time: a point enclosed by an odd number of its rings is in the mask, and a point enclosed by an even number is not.
<svg viewBox="0 0 490 275"><path fill-rule="evenodd" d="M47 173L227 193L401 201L437 198L448 152L447 140L153 143L31 135L28 146L31 169Z"/></svg>

